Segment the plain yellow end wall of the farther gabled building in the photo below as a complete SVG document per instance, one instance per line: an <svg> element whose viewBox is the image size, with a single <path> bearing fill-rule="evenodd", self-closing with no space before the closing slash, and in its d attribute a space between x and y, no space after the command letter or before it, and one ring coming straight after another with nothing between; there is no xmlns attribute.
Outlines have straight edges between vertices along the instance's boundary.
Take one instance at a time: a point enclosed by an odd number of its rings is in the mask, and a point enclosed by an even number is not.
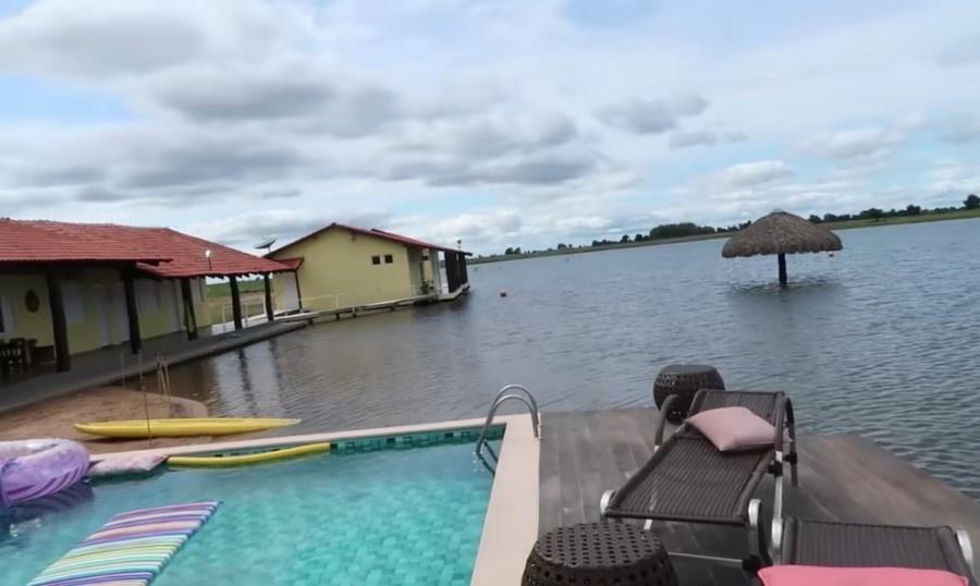
<svg viewBox="0 0 980 586"><path fill-rule="evenodd" d="M390 240L333 228L275 251L272 257L304 258L298 269L303 307L324 310L418 295L420 255L413 253L415 263L409 266L408 251ZM384 255L391 255L393 263L385 264ZM372 256L380 256L381 264L371 264ZM411 271L415 271L415 278ZM273 279L277 308L286 306L283 289L287 279L293 274L281 273Z"/></svg>

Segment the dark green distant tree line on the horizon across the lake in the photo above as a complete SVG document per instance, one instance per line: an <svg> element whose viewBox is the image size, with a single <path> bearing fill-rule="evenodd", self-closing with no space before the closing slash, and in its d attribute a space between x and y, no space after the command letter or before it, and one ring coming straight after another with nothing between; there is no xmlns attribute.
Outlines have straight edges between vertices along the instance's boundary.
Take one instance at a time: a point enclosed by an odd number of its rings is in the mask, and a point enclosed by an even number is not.
<svg viewBox="0 0 980 586"><path fill-rule="evenodd" d="M905 207L905 209L890 209L887 211L879 208L868 208L861 210L857 213L824 213L822 217L814 215L810 215L809 220L812 223L823 223L823 222L846 222L849 220L872 220L878 221L882 218L896 218L903 216L921 216L926 213L945 213L948 211L957 211L960 209L980 209L980 197L975 194L970 194L963 202L961 208L958 207L945 207L945 208L933 208L933 209L922 209L921 206L917 206L914 204L909 204ZM612 246L615 244L627 244L635 242L649 242L656 240L666 240L666 239L682 239L687 236L699 236L705 234L720 234L724 232L737 232L752 222L742 222L735 225L714 228L711 225L698 225L694 222L681 222L681 223L665 223L660 224L654 228L651 228L650 231L646 234L638 233L633 236L629 234L623 234L620 240L593 240L589 245L574 245L567 244L564 242L560 242L558 246L554 248L548 248L547 251L527 251L528 253L538 253L538 252L551 252L551 251L567 251L571 248L587 248L589 246L601 247L601 246ZM520 246L507 247L504 251L504 255L519 255L524 254L520 249Z"/></svg>

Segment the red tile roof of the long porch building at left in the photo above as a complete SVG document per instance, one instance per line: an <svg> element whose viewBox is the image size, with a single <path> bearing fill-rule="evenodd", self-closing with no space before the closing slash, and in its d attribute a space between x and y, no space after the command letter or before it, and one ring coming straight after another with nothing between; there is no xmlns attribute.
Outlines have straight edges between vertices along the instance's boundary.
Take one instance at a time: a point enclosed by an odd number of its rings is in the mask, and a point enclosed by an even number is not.
<svg viewBox="0 0 980 586"><path fill-rule="evenodd" d="M292 270L169 228L0 220L0 264L36 263L136 263L139 270L163 278Z"/></svg>

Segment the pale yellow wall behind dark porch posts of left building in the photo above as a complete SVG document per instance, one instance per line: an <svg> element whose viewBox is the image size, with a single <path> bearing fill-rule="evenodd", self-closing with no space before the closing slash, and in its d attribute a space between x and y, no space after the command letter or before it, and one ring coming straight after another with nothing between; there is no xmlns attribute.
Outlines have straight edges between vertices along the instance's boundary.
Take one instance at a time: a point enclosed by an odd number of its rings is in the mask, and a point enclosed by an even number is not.
<svg viewBox="0 0 980 586"><path fill-rule="evenodd" d="M75 269L59 273L64 298L69 347L72 354L128 342L125 292L119 271ZM184 329L180 283L152 279L136 280L139 333L144 340ZM198 328L207 325L200 281L192 281ZM27 292L38 296L37 312L28 312ZM39 346L53 342L48 286L44 274L0 276L0 306L3 331L0 338L28 338Z"/></svg>

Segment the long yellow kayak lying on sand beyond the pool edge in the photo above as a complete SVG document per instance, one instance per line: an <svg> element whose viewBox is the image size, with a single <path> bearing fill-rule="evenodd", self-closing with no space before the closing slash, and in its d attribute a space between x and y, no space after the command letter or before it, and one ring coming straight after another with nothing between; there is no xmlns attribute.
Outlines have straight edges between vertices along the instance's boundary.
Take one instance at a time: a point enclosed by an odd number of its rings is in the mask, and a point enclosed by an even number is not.
<svg viewBox="0 0 980 586"><path fill-rule="evenodd" d="M83 434L107 438L179 438L187 436L226 436L264 431L274 427L298 424L299 419L252 417L231 419L225 417L187 417L175 419L132 419L75 424Z"/></svg>

